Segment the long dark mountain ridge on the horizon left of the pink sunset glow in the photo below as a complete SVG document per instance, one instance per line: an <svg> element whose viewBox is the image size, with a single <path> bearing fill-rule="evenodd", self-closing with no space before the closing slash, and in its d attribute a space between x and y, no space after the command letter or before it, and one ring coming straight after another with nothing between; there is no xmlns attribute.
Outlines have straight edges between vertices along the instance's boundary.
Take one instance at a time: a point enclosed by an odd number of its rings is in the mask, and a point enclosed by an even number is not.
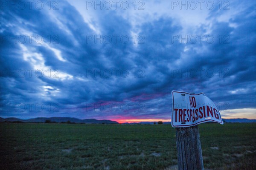
<svg viewBox="0 0 256 170"><path fill-rule="evenodd" d="M77 119L73 117L37 117L34 119L18 119L15 117L9 117L9 118L2 118L0 117L0 122L38 122L38 123L44 123L46 121L50 122L70 122L70 123L87 123L87 124L118 124L116 121L111 120L97 120L97 119Z"/></svg>

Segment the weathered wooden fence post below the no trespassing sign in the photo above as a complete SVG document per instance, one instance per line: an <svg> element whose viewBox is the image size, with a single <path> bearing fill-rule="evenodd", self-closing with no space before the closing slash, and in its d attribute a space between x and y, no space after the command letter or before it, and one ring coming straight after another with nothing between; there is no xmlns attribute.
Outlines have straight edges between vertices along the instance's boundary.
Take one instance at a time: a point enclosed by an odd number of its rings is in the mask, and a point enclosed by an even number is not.
<svg viewBox="0 0 256 170"><path fill-rule="evenodd" d="M198 125L176 128L179 170L204 170Z"/></svg>

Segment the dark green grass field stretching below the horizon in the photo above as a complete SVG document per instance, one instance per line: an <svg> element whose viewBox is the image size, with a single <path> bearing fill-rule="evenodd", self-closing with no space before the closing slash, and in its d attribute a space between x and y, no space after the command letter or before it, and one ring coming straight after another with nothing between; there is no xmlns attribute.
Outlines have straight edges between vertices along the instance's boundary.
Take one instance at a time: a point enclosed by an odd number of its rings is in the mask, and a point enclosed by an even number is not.
<svg viewBox="0 0 256 170"><path fill-rule="evenodd" d="M199 125L205 169L255 170L256 124ZM1 170L172 170L171 125L0 123Z"/></svg>

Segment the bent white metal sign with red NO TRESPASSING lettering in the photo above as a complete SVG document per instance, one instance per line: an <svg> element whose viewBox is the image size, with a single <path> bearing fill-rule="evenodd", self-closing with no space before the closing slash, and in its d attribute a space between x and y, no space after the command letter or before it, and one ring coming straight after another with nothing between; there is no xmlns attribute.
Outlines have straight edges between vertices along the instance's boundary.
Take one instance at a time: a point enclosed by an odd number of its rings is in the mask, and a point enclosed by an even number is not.
<svg viewBox="0 0 256 170"><path fill-rule="evenodd" d="M172 127L189 127L205 122L223 125L216 105L204 93L172 91Z"/></svg>

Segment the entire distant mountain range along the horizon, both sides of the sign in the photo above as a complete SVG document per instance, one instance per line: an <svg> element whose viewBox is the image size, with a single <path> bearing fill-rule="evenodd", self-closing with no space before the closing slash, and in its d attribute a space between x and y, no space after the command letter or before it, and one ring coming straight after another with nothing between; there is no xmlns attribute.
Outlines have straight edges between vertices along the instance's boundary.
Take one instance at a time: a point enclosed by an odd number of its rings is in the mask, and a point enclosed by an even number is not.
<svg viewBox="0 0 256 170"><path fill-rule="evenodd" d="M112 120L97 120L97 119L77 119L73 117L37 117L33 119L18 119L15 117L9 118L2 118L0 117L0 122L34 122L34 123L44 123L48 120L48 122L70 122L70 123L87 123L87 124L119 124L116 121ZM222 119L226 123L254 123L256 119ZM154 124L154 122L139 122L139 123L122 123L122 124L129 124L129 125L136 125L136 124ZM157 122L156 122L157 124ZM163 122L163 124L171 124L171 122Z"/></svg>

